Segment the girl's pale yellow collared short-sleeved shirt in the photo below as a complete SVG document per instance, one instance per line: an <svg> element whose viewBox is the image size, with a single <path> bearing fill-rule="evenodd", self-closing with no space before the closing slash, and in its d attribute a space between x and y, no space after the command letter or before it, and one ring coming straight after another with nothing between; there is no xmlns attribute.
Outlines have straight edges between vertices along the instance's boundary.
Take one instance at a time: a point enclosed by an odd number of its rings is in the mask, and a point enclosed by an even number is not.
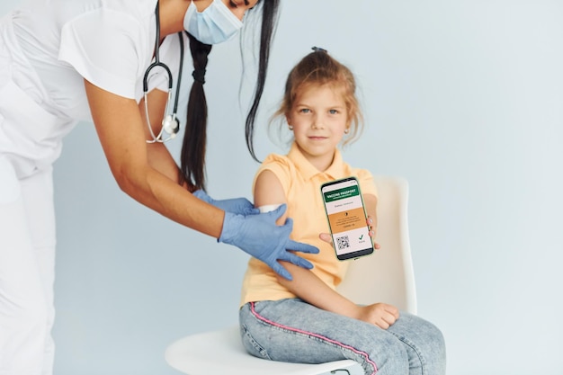
<svg viewBox="0 0 563 375"><path fill-rule="evenodd" d="M377 196L371 173L365 169L353 168L344 163L339 150L336 150L333 164L325 172L319 172L301 154L293 143L287 156L271 154L258 169L256 176L264 170L270 170L280 180L288 201L288 217L293 219L293 231L290 238L312 246L317 246L318 254L298 253L314 264L311 270L326 285L335 289L343 280L347 262L336 258L335 250L318 238L320 233L328 233L328 223L320 192L321 184L336 179L355 176L360 183L362 194ZM253 183L254 185L254 183ZM241 306L247 302L259 300L279 300L296 298L276 280L273 270L255 258L248 261L243 287Z"/></svg>

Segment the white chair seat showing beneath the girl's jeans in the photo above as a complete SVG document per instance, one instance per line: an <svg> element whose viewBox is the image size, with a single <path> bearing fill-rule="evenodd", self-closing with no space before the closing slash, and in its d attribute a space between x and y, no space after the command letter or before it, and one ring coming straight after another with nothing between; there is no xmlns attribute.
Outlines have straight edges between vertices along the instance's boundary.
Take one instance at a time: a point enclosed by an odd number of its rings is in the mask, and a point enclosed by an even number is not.
<svg viewBox="0 0 563 375"><path fill-rule="evenodd" d="M246 353L238 326L183 337L168 346L165 359L174 369L194 375L317 375L357 364L351 360L303 364L256 358Z"/></svg>

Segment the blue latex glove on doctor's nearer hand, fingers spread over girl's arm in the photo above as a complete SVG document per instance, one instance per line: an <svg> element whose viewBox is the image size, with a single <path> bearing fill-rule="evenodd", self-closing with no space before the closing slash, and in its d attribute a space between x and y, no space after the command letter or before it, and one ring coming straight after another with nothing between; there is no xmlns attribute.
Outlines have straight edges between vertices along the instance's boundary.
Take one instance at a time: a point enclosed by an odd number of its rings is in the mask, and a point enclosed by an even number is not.
<svg viewBox="0 0 563 375"><path fill-rule="evenodd" d="M287 280L292 280L288 272L278 261L286 261L311 269L313 264L288 250L317 254L315 246L290 240L293 220L287 219L283 226L276 225L276 220L287 210L282 204L276 210L255 215L235 215L225 212L223 231L219 242L234 245L244 252L268 264L274 272Z"/></svg>

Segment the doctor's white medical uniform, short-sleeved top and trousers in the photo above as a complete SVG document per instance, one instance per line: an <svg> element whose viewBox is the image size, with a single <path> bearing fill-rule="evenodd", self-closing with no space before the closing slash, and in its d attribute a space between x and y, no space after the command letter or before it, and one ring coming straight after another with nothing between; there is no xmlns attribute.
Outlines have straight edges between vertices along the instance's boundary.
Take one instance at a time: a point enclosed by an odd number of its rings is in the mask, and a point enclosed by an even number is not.
<svg viewBox="0 0 563 375"><path fill-rule="evenodd" d="M91 119L84 78L139 102L155 47L156 0L40 3L0 20L0 375L52 373L52 164ZM177 76L176 35L160 57ZM148 85L168 76L153 69Z"/></svg>

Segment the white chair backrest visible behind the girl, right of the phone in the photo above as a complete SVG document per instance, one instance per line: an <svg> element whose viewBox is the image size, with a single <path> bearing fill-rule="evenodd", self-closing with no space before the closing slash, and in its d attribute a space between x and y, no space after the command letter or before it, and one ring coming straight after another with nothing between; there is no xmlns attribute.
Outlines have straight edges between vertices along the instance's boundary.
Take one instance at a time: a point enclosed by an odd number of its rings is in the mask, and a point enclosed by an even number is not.
<svg viewBox="0 0 563 375"><path fill-rule="evenodd" d="M375 176L378 188L376 242L371 255L352 262L338 291L353 302L386 302L416 314L416 286L408 235L408 183L398 177Z"/></svg>

